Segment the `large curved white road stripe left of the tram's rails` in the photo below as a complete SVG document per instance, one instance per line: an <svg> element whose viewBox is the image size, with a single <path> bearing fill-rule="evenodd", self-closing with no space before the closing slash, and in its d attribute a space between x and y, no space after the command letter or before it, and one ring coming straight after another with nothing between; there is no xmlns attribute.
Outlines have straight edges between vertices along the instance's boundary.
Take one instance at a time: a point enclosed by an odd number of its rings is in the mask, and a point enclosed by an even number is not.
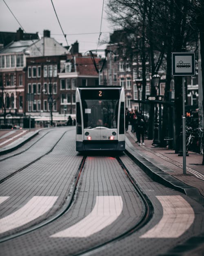
<svg viewBox="0 0 204 256"><path fill-rule="evenodd" d="M0 233L20 227L46 213L58 197L33 197L27 204L0 219Z"/></svg>

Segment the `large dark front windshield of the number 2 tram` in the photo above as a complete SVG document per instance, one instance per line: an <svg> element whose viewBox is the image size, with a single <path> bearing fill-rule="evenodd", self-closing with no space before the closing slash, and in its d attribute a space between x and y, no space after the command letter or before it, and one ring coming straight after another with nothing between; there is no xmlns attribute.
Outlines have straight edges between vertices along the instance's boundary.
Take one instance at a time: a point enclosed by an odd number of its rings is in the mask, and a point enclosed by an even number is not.
<svg viewBox="0 0 204 256"><path fill-rule="evenodd" d="M84 128L117 128L119 100L82 100Z"/></svg>

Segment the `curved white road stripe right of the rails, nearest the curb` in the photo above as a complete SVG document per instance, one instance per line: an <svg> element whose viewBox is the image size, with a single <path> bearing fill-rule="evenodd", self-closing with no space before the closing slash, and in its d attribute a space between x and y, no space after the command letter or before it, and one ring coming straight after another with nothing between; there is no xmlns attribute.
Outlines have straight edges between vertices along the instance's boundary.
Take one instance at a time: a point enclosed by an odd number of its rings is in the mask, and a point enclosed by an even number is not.
<svg viewBox="0 0 204 256"><path fill-rule="evenodd" d="M193 223L194 211L180 195L157 196L163 207L163 217L140 238L177 238Z"/></svg>

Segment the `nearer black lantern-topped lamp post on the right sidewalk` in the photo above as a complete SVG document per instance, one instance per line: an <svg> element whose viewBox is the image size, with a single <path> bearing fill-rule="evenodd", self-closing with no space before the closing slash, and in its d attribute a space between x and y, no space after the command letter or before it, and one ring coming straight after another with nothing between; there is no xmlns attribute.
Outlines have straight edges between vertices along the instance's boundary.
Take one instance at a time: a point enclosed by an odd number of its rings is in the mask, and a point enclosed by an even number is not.
<svg viewBox="0 0 204 256"><path fill-rule="evenodd" d="M155 87L156 96L157 96L157 90L159 88L159 95L160 95L160 75L155 74L152 77L152 83ZM157 99L157 97L156 97ZM154 120L154 138L153 138L153 146L158 147L160 145L160 139L159 139L159 120L158 120L158 113L157 113L157 103L155 104L155 120Z"/></svg>

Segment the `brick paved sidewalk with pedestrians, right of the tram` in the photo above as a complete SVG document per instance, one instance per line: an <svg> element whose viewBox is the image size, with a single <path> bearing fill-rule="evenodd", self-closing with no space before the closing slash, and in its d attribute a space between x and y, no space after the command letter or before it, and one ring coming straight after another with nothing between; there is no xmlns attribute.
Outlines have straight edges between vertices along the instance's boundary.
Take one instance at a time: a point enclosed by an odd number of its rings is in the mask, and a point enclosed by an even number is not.
<svg viewBox="0 0 204 256"><path fill-rule="evenodd" d="M156 161L157 165L161 164L164 172L170 174L185 184L197 188L204 196L204 165L202 165L202 154L188 152L186 156L186 174L183 174L183 157L175 154L174 150L162 147L154 147L153 140L144 140L145 145L135 143L135 133L127 132L126 137L131 141L135 150L144 158L150 158ZM166 168L164 168L166 166Z"/></svg>

